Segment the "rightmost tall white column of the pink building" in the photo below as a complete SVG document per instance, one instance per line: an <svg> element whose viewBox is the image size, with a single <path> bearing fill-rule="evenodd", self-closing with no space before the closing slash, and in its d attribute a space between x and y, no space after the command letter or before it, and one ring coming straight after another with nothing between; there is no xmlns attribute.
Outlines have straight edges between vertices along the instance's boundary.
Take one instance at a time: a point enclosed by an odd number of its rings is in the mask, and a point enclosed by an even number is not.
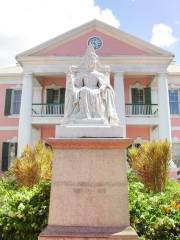
<svg viewBox="0 0 180 240"><path fill-rule="evenodd" d="M159 139L171 141L171 122L167 74L158 74Z"/></svg>

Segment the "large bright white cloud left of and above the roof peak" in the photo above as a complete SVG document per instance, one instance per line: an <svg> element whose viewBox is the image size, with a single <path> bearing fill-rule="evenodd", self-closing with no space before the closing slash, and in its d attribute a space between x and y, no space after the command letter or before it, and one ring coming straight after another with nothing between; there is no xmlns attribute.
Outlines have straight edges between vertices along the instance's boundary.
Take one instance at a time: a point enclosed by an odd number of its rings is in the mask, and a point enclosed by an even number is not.
<svg viewBox="0 0 180 240"><path fill-rule="evenodd" d="M94 18L119 27L94 0L0 0L0 65L14 55ZM3 44L1 44L3 43Z"/></svg>

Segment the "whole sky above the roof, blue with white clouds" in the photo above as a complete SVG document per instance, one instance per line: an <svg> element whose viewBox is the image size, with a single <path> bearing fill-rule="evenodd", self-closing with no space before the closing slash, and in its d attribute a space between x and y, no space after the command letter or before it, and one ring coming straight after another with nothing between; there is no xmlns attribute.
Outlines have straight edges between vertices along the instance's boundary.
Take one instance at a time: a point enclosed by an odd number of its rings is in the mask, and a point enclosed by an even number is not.
<svg viewBox="0 0 180 240"><path fill-rule="evenodd" d="M180 0L0 0L0 6L0 67L95 18L173 52L180 64Z"/></svg>

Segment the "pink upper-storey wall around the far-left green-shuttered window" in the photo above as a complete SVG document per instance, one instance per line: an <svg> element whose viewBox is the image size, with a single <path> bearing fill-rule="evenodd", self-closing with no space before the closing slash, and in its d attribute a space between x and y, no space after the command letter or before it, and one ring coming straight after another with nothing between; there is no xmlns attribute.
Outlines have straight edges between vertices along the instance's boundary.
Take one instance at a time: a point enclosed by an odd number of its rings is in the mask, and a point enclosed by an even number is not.
<svg viewBox="0 0 180 240"><path fill-rule="evenodd" d="M0 125L3 126L17 126L19 124L18 118L13 118L9 116L4 116L4 107L5 107L5 96L6 96L6 89L14 88L17 85L13 84L1 84L0 85Z"/></svg>

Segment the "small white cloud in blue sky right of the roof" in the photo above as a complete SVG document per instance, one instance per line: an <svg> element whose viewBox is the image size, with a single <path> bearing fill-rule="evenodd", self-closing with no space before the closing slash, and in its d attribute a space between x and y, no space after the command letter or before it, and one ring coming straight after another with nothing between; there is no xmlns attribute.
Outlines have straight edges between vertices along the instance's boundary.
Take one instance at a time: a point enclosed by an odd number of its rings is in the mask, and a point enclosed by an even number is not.
<svg viewBox="0 0 180 240"><path fill-rule="evenodd" d="M163 23L154 24L152 29L151 43L159 47L170 47L177 42L178 38L173 36L173 29Z"/></svg>

